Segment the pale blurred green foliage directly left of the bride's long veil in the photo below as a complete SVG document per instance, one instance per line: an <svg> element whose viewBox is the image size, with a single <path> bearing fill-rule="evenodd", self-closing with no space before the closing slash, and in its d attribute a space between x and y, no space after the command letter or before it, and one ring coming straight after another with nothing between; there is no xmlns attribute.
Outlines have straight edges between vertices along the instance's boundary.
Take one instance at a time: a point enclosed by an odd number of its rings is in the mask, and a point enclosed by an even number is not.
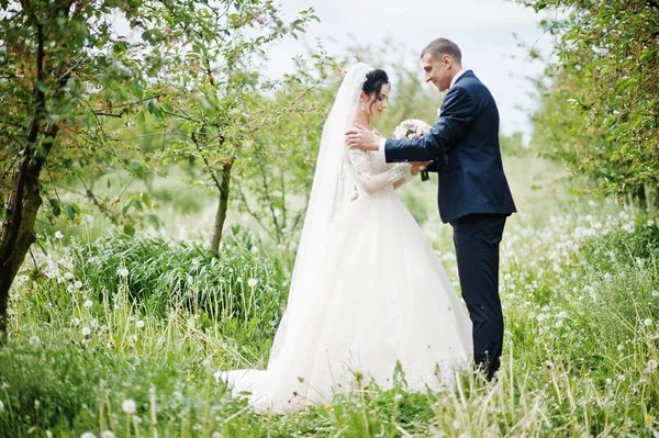
<svg viewBox="0 0 659 438"><path fill-rule="evenodd" d="M236 186L238 210L284 248L302 228L323 126L343 78L342 65L320 52L311 65L298 58L295 71L264 99L276 123L252 136Z"/></svg>

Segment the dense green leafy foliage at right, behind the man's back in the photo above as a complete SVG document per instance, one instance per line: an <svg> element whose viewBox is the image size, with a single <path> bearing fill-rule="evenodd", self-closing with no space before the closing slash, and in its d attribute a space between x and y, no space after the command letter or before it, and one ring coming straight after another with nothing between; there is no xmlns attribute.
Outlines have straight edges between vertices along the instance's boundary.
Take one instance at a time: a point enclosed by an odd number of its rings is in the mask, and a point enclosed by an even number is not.
<svg viewBox="0 0 659 438"><path fill-rule="evenodd" d="M607 193L644 195L659 181L659 3L521 0L555 9L551 80L541 89L534 143Z"/></svg>

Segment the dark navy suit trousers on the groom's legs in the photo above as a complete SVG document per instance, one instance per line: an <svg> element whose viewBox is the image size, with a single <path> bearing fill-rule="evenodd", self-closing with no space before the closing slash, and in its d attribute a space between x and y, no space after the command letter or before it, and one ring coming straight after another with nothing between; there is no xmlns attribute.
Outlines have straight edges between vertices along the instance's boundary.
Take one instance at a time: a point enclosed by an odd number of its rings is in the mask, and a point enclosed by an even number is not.
<svg viewBox="0 0 659 438"><path fill-rule="evenodd" d="M473 324L473 360L488 380L499 369L503 347L499 244L505 220L502 214L470 214L451 222L462 299Z"/></svg>

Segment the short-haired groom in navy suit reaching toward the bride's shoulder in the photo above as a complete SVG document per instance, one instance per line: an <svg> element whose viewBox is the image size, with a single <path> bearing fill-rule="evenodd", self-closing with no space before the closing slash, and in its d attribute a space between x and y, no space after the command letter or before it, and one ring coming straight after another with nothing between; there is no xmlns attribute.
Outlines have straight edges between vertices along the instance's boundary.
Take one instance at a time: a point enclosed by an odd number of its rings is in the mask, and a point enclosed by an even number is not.
<svg viewBox="0 0 659 438"><path fill-rule="evenodd" d="M426 82L446 91L440 115L421 139L383 139L357 126L348 144L380 150L387 162L433 161L439 175L439 215L454 228L462 297L473 323L473 359L488 380L499 369L503 313L499 243L515 212L499 147L499 111L490 91L462 69L460 48L437 38L421 53ZM440 335L440 334L438 334Z"/></svg>

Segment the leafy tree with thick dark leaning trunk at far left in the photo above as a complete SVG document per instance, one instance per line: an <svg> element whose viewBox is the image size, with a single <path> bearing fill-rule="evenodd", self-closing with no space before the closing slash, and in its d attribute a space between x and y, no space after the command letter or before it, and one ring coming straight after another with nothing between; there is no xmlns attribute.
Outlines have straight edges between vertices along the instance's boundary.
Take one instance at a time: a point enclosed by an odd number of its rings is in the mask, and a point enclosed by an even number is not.
<svg viewBox="0 0 659 438"><path fill-rule="evenodd" d="M85 161L107 136L103 119L147 98L131 45L112 32L139 1L0 2L0 330L9 288L30 246L49 177ZM121 87L118 87L122 83ZM115 112L116 111L116 112ZM88 133L87 137L79 134ZM98 143L100 142L100 143ZM108 146L111 150L111 146ZM56 213L76 214L72 205Z"/></svg>

